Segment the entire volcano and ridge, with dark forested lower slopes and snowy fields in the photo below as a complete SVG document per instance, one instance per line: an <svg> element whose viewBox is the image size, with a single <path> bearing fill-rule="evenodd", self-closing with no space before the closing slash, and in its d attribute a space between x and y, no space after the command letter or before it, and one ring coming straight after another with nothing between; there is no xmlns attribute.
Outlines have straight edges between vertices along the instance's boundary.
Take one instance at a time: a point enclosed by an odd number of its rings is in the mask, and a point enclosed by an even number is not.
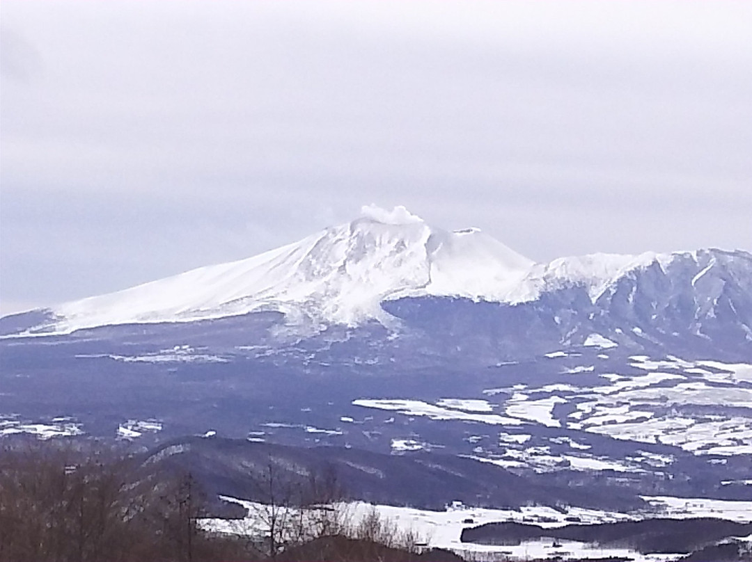
<svg viewBox="0 0 752 562"><path fill-rule="evenodd" d="M0 319L0 438L435 451L553 489L741 500L750 326L747 252L536 264L368 207L253 258Z"/></svg>

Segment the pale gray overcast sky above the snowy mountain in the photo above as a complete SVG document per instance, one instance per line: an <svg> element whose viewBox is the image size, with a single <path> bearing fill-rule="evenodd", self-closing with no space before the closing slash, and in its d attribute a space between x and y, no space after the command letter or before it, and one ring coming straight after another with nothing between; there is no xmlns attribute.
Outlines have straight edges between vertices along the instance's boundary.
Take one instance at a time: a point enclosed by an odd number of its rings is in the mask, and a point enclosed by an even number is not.
<svg viewBox="0 0 752 562"><path fill-rule="evenodd" d="M0 8L2 313L371 203L536 261L752 249L750 2Z"/></svg>

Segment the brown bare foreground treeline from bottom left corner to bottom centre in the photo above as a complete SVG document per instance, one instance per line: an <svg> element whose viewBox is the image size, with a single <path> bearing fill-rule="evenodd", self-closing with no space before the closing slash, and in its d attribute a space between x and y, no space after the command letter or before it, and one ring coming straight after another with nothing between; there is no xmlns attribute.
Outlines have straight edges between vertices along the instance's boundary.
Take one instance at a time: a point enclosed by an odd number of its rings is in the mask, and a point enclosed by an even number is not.
<svg viewBox="0 0 752 562"><path fill-rule="evenodd" d="M202 519L214 498L190 473L166 472L143 457L53 443L0 449L0 561L208 562L210 560L423 560L416 537L374 514L353 524L335 507L334 477L294 486L274 464L257 485L268 504L238 534L211 533ZM256 494L258 490L256 491ZM436 557L457 559L450 553Z"/></svg>

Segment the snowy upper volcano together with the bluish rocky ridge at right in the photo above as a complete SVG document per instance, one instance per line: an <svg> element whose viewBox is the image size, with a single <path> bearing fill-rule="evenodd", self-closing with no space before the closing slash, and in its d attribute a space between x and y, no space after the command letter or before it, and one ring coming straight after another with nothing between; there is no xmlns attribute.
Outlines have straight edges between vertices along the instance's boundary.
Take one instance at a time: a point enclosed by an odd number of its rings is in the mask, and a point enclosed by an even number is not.
<svg viewBox="0 0 752 562"><path fill-rule="evenodd" d="M553 301L544 315L559 325L587 308L588 319L610 325L604 330L611 335L654 327L709 338L733 325L735 338L752 341L747 252L594 254L535 264L477 228L445 231L404 207L372 206L352 222L251 258L6 317L2 332L67 334L259 311L284 313L288 325L375 320L394 327L399 322L385 303L426 297L510 305L543 299Z"/></svg>

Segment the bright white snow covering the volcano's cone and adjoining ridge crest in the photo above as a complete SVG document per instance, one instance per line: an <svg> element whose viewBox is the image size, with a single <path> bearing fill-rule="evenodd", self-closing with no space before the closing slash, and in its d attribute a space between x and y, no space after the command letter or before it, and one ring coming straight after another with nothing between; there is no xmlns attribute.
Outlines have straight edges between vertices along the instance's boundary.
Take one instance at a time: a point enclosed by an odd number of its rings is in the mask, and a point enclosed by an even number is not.
<svg viewBox="0 0 752 562"><path fill-rule="evenodd" d="M363 207L362 216L251 258L199 267L108 295L52 307L44 331L190 322L259 310L290 325L395 322L381 302L452 296L520 303L572 284L599 298L623 274L672 255L593 254L535 264L478 228L433 228L405 207ZM605 340L605 338L604 338ZM602 342L601 342L602 343Z"/></svg>

